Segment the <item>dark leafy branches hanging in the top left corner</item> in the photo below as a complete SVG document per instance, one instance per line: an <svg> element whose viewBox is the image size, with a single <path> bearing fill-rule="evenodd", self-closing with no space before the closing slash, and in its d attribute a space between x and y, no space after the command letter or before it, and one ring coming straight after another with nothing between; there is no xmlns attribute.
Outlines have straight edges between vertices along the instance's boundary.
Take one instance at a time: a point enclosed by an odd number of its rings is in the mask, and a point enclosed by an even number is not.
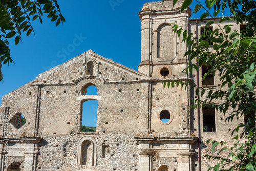
<svg viewBox="0 0 256 171"><path fill-rule="evenodd" d="M22 42L22 33L27 36L34 32L31 22L39 19L42 23L43 13L51 21L56 21L58 26L65 22L61 15L57 0L1 0L0 1L0 81L3 79L1 72L3 64L12 63L10 56L9 39L14 38L15 45Z"/></svg>

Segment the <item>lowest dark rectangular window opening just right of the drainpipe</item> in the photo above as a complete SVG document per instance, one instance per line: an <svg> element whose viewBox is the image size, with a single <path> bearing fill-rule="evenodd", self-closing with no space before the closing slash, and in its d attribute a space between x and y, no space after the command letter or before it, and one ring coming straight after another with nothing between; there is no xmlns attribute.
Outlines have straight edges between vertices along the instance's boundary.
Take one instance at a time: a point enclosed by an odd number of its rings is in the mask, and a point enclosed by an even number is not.
<svg viewBox="0 0 256 171"><path fill-rule="evenodd" d="M215 108L203 108L203 131L216 132Z"/></svg>

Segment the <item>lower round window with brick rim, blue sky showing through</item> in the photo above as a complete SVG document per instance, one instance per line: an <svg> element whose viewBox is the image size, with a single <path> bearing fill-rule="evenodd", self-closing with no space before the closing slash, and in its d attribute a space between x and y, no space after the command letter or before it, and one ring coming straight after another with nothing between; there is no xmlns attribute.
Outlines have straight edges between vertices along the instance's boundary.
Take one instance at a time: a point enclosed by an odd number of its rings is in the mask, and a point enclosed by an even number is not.
<svg viewBox="0 0 256 171"><path fill-rule="evenodd" d="M173 121L173 118L173 112L169 108L163 107L158 110L157 119L159 123L168 125Z"/></svg>

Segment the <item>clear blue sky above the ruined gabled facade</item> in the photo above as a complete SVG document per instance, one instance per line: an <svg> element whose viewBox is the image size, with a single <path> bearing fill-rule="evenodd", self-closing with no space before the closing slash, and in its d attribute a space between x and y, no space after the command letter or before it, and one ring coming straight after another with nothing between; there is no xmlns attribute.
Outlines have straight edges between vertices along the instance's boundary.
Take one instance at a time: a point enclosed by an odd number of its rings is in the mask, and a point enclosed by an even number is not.
<svg viewBox="0 0 256 171"><path fill-rule="evenodd" d="M56 27L45 15L43 24L32 22L35 30L23 44L10 40L15 62L4 65L2 96L35 79L38 74L92 49L122 65L138 70L141 48L141 23L138 12L148 0L58 1L66 23ZM194 9L194 5L191 5ZM191 18L197 18L195 14ZM80 37L80 42L75 41ZM76 46L74 46L76 45ZM66 49L66 50L65 50Z"/></svg>

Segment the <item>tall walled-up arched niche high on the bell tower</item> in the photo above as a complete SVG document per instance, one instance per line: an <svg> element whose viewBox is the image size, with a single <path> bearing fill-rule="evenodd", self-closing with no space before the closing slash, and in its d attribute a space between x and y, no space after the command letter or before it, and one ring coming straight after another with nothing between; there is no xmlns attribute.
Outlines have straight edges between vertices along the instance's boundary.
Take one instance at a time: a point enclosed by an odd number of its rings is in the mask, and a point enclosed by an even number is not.
<svg viewBox="0 0 256 171"><path fill-rule="evenodd" d="M175 34L172 31L172 26L163 23L157 31L157 58L173 60Z"/></svg>

